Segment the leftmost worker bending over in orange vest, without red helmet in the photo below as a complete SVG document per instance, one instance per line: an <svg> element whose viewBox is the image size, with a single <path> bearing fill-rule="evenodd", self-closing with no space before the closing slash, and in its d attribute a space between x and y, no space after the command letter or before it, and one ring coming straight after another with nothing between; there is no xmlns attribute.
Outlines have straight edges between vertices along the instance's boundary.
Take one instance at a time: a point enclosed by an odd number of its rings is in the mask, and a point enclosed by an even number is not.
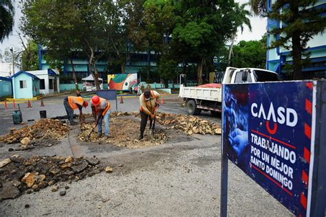
<svg viewBox="0 0 326 217"><path fill-rule="evenodd" d="M74 122L74 110L79 109L79 115L83 117L83 106L87 108L88 102L84 101L80 96L68 96L63 100L63 105L65 106L70 125L76 125L78 123Z"/></svg>

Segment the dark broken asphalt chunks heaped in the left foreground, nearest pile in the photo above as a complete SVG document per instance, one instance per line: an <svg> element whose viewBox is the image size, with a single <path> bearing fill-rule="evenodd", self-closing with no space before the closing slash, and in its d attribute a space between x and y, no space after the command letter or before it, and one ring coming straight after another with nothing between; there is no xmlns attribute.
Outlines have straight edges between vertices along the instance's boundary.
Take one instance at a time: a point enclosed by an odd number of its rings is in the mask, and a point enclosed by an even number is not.
<svg viewBox="0 0 326 217"><path fill-rule="evenodd" d="M12 155L0 161L0 199L17 198L59 181L78 181L104 170L97 158L41 157L29 159ZM56 191L58 186L52 191Z"/></svg>

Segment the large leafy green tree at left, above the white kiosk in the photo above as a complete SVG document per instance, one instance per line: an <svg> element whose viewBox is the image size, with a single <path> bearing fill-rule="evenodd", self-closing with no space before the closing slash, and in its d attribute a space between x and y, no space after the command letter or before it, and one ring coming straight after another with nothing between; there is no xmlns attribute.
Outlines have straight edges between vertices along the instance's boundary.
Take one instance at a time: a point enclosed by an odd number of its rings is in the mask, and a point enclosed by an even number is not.
<svg viewBox="0 0 326 217"><path fill-rule="evenodd" d="M23 31L47 48L47 60L69 61L73 72L72 58L83 54L99 89L96 61L109 48L112 5L105 0L28 0L23 4Z"/></svg>

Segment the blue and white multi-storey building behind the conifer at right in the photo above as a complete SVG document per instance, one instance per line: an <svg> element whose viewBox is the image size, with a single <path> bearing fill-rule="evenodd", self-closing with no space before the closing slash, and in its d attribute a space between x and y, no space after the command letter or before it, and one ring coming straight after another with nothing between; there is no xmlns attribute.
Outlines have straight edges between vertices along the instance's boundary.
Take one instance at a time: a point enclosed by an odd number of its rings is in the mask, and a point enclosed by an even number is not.
<svg viewBox="0 0 326 217"><path fill-rule="evenodd" d="M268 11L272 10L272 5L275 0L268 0ZM321 0L316 3L314 7L325 8L326 0ZM322 14L321 16L325 16ZM282 27L283 23L268 19L268 31L274 28ZM279 39L279 36L268 34L267 45L270 46L272 41ZM313 78L326 78L326 37L325 35L318 34L314 36L307 44L307 51L311 52L310 63L303 71L311 73ZM275 71L283 76L285 63L292 63L292 57L290 56L290 50L283 47L276 47L274 49L268 49L266 67L268 70Z"/></svg>

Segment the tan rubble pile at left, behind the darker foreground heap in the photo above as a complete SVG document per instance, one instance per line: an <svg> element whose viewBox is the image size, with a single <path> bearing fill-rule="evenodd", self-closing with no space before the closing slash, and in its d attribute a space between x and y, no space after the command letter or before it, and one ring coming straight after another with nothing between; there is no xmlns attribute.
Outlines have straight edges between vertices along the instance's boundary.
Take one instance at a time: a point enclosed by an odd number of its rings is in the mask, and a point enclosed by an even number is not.
<svg viewBox="0 0 326 217"><path fill-rule="evenodd" d="M0 137L0 141L7 144L21 142L22 146L28 146L34 140L62 139L68 130L66 124L58 119L39 119L30 126L10 128L10 133Z"/></svg>

